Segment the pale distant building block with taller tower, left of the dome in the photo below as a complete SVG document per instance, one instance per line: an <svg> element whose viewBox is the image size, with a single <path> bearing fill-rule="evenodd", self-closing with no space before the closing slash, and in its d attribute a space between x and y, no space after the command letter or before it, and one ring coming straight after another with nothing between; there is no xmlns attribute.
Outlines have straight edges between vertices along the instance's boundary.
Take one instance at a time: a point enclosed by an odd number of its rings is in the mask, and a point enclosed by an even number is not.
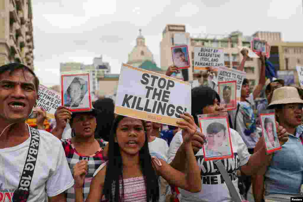
<svg viewBox="0 0 303 202"><path fill-rule="evenodd" d="M99 79L111 73L111 66L104 62L102 55L93 59L93 64L85 65L80 62L60 63L60 72L89 70L92 72L92 96L97 97L99 93ZM103 89L102 89L103 90ZM92 99L94 100L94 99Z"/></svg>

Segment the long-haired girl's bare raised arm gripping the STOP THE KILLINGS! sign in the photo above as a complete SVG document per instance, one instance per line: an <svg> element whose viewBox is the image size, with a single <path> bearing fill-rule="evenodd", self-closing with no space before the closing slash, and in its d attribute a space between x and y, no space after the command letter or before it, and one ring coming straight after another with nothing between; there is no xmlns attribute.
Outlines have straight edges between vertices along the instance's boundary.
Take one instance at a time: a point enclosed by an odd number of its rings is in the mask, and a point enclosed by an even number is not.
<svg viewBox="0 0 303 202"><path fill-rule="evenodd" d="M190 192L199 192L201 190L201 173L197 164L197 160L192 148L191 140L194 135L198 135L201 138L203 134L196 130L194 118L185 113L180 114L180 117L185 121L178 121L179 127L183 129L183 152L185 153L185 159L181 162L186 165L186 174L177 171L165 161L160 160L161 166L157 164L157 160L153 159L154 166L158 173L168 181L169 184L175 185Z"/></svg>

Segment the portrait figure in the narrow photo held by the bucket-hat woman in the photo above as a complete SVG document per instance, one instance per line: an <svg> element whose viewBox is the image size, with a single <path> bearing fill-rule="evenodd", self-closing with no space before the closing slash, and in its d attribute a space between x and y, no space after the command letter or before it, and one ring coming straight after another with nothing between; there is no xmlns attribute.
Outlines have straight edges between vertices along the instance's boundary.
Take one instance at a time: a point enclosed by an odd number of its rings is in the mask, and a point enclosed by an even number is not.
<svg viewBox="0 0 303 202"><path fill-rule="evenodd" d="M279 140L275 132L275 121L273 119L266 117L264 119L264 138L266 142L266 146L268 149L272 149L274 147L279 147Z"/></svg>

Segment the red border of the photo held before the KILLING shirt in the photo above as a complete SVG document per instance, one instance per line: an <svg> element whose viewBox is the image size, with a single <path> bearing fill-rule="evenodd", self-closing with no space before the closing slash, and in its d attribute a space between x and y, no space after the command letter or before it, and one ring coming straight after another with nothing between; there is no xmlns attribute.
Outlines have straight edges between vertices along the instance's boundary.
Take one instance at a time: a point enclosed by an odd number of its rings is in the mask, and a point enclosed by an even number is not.
<svg viewBox="0 0 303 202"><path fill-rule="evenodd" d="M200 115L199 115L200 116ZM231 144L231 134L230 134L230 130L229 130L229 124L228 124L228 117L227 116L218 116L218 117L204 117L204 118L198 118L199 120L199 125L200 125L200 131L201 133L203 133L203 127L202 127L202 121L205 120L218 120L218 119L224 119L225 121L225 127L226 127L226 131L228 131L228 137L229 137L229 148L230 148L230 152L231 154L228 155L220 155L220 156L212 156L212 157L207 157L206 155L206 151L205 151L205 144L202 145L202 149L203 149L203 155L204 155L204 160L205 161L210 161L210 160L221 160L221 159L226 159L226 158L233 158L234 157L234 153L232 150L232 144ZM205 136L207 136L206 133Z"/></svg>

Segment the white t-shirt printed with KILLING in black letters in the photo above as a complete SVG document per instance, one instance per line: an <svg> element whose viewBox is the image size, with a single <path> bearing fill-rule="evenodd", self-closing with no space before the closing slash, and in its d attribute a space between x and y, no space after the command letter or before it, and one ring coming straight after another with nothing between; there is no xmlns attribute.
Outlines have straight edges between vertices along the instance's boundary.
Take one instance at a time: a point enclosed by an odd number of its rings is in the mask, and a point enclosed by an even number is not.
<svg viewBox="0 0 303 202"><path fill-rule="evenodd" d="M231 144L234 153L233 158L222 160L223 165L226 168L229 176L232 178L232 182L238 190L238 177L236 171L240 166L245 165L251 156L248 153L247 147L243 142L241 136L237 131L230 128L231 132ZM170 163L178 151L183 142L181 131L179 131L173 137L169 150L168 150L168 162ZM194 201L216 201L216 202L231 202L233 201L228 187L226 186L223 177L216 169L216 165L213 161L204 161L203 150L200 149L195 155L198 165L201 170L202 189L199 193L191 193L186 190L180 190L181 202L194 202Z"/></svg>

